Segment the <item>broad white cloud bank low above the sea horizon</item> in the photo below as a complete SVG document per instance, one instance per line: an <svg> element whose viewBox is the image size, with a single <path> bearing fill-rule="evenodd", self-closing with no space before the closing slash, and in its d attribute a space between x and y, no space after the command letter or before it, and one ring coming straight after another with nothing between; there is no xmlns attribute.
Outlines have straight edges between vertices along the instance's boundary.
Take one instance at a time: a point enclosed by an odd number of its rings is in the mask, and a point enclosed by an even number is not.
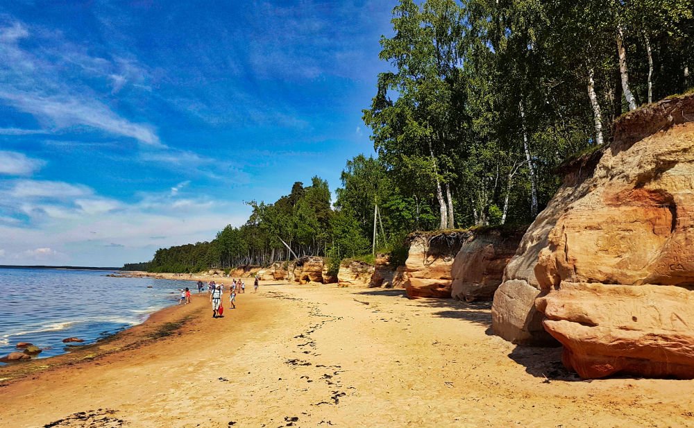
<svg viewBox="0 0 694 428"><path fill-rule="evenodd" d="M5 250L0 259L12 264L141 262L162 246L210 241L225 225L241 225L248 216L245 205L181 198L183 192L171 194L169 187L136 194L135 202L126 203L78 184L8 182L0 182L0 237ZM176 187L183 188L184 183Z"/></svg>

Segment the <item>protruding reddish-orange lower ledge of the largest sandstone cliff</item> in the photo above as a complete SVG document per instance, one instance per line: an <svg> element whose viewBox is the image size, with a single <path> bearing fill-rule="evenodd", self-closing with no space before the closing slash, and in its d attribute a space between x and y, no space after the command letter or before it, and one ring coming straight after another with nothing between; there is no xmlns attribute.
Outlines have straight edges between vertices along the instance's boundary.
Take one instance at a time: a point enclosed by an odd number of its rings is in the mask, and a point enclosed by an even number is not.
<svg viewBox="0 0 694 428"><path fill-rule="evenodd" d="M694 378L694 293L678 286L562 282L538 299L543 322L581 377Z"/></svg>

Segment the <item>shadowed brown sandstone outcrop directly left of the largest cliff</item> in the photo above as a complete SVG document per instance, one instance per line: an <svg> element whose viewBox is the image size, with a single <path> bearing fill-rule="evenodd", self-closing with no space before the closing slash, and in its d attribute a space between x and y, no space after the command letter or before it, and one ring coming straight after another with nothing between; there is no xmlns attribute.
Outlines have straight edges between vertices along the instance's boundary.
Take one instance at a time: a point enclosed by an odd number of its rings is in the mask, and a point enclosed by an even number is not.
<svg viewBox="0 0 694 428"><path fill-rule="evenodd" d="M523 232L525 228L473 232L453 261L452 298L466 302L491 300L501 284L506 265L516 254Z"/></svg>

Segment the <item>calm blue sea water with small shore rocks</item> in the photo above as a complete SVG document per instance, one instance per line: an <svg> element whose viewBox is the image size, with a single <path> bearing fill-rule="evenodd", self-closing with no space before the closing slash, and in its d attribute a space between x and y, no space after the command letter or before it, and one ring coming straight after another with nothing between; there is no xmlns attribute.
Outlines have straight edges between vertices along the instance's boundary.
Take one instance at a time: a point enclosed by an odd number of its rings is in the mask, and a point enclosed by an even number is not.
<svg viewBox="0 0 694 428"><path fill-rule="evenodd" d="M179 290L195 285L108 273L0 268L0 356L16 351L17 342L44 348L38 357L94 343L177 304ZM84 342L62 343L74 336Z"/></svg>

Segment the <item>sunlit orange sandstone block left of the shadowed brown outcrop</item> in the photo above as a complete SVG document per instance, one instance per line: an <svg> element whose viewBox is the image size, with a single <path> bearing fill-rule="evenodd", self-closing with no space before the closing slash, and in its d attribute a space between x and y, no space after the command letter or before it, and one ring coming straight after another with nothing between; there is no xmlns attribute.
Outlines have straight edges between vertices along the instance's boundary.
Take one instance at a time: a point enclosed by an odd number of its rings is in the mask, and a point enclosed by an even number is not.
<svg viewBox="0 0 694 428"><path fill-rule="evenodd" d="M453 259L468 237L465 232L412 235L404 273L407 297L450 298Z"/></svg>

